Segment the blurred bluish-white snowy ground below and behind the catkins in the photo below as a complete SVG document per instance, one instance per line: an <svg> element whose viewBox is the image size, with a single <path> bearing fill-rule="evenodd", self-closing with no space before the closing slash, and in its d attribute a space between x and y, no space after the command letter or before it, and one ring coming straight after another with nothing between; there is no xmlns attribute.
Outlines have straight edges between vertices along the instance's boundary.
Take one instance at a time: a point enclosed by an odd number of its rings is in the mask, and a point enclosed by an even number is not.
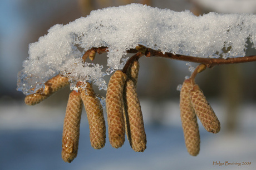
<svg viewBox="0 0 256 170"><path fill-rule="evenodd" d="M77 158L65 163L61 158L61 138L66 106L1 104L0 169L256 169L253 104L241 108L238 130L233 134L225 131L221 105L212 104L223 128L220 133L211 134L200 126L201 151L196 157L190 156L185 148L178 102L164 104L165 121L159 126L152 124L146 114L151 103L142 101L141 106L147 134L144 153L132 151L127 140L119 149L112 148L108 139L103 149L93 149L83 111ZM241 166L225 166L226 161L240 162ZM242 165L243 162L251 164Z"/></svg>

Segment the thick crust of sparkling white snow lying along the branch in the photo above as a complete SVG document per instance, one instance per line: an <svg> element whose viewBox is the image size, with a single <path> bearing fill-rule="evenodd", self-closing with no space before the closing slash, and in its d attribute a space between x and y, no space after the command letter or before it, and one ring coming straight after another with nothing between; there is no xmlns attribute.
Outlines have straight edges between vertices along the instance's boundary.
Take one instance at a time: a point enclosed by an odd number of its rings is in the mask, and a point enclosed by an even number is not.
<svg viewBox="0 0 256 170"><path fill-rule="evenodd" d="M71 88L77 81L92 81L106 90L104 76L121 69L127 49L137 44L195 57L242 57L247 42L256 46L255 28L254 14L209 13L196 17L189 11L142 4L98 9L64 26L56 24L38 42L29 44L29 57L18 73L17 89L26 95L35 93L61 73L70 79ZM107 72L99 64L81 61L88 49L101 46L109 47Z"/></svg>

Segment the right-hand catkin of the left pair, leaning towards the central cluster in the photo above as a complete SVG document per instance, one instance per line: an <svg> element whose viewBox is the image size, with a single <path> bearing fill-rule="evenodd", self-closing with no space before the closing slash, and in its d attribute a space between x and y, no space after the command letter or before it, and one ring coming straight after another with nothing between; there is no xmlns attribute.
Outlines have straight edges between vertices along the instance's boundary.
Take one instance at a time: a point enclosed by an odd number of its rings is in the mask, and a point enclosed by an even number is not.
<svg viewBox="0 0 256 170"><path fill-rule="evenodd" d="M93 91L91 83L87 82L86 89L80 88L80 92L87 113L91 146L101 149L106 142L106 125L100 99Z"/></svg>

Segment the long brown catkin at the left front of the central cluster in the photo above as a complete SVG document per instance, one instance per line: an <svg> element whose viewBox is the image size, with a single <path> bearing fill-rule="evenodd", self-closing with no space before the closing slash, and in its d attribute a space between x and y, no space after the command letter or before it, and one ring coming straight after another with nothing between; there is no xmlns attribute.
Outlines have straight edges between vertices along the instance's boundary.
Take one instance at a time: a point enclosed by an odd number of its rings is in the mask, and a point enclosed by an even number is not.
<svg viewBox="0 0 256 170"><path fill-rule="evenodd" d="M119 148L125 142L125 121L123 113L122 93L126 74L116 71L109 81L106 93L107 122L109 125L109 141L112 147Z"/></svg>

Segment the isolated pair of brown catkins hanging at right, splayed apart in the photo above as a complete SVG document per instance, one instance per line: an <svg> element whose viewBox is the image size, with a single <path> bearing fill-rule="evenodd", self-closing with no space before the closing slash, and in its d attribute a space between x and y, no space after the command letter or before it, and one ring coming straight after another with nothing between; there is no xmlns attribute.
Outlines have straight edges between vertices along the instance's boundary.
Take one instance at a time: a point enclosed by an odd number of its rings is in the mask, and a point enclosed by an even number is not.
<svg viewBox="0 0 256 170"><path fill-rule="evenodd" d="M218 133L220 122L206 100L203 91L193 79L185 79L180 91L180 117L184 139L189 154L196 156L200 151L200 135L196 116L206 131Z"/></svg>

